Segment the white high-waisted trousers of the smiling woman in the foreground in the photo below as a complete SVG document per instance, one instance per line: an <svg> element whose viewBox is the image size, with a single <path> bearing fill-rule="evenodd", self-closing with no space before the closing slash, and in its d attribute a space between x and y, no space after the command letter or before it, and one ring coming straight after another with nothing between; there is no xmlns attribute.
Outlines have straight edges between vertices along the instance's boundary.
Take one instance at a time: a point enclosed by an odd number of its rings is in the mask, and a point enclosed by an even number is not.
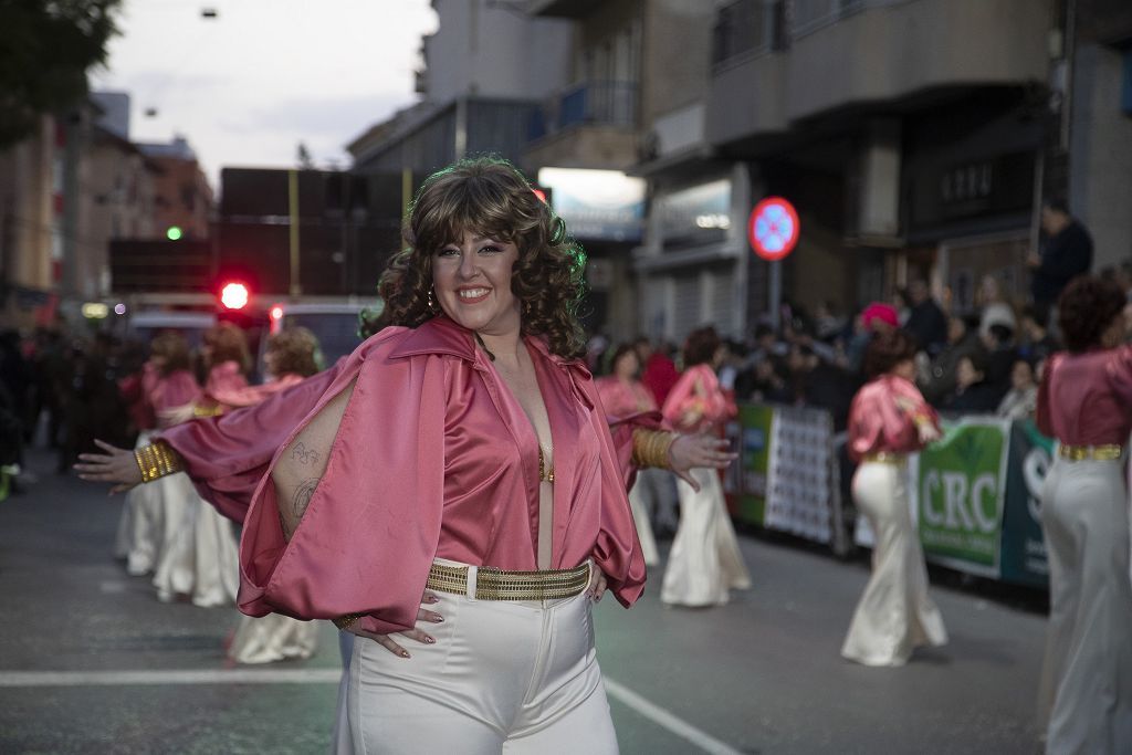
<svg viewBox="0 0 1132 755"><path fill-rule="evenodd" d="M346 717L370 753L617 753L583 592L554 601L492 601L437 592L412 658L355 638Z"/></svg>

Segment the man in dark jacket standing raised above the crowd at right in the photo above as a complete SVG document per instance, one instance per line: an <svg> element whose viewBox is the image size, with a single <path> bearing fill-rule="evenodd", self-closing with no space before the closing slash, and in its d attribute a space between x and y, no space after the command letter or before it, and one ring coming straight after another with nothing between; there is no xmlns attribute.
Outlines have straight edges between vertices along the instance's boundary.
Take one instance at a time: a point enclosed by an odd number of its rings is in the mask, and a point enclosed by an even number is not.
<svg viewBox="0 0 1132 755"><path fill-rule="evenodd" d="M1041 205L1041 230L1045 246L1040 254L1031 254L1027 264L1032 273L1034 303L1048 312L1069 282L1092 266L1092 237L1070 216L1061 198L1046 199Z"/></svg>

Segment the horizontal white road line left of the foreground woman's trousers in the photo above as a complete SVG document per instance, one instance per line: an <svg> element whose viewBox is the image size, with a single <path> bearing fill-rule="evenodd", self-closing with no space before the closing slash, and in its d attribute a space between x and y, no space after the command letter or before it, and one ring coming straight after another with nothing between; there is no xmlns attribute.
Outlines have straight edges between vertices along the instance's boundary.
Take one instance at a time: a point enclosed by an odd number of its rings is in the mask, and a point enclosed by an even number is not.
<svg viewBox="0 0 1132 755"><path fill-rule="evenodd" d="M198 671L0 671L0 687L165 684L337 684L340 669L201 669Z"/></svg>

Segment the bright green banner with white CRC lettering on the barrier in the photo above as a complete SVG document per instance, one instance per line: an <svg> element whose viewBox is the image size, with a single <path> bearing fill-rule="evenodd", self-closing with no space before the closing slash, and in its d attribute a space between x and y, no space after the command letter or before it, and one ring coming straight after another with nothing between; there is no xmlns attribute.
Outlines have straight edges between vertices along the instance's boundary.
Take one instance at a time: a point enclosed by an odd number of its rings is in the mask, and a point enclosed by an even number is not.
<svg viewBox="0 0 1132 755"><path fill-rule="evenodd" d="M945 423L920 453L917 515L925 556L964 572L998 577L1010 423Z"/></svg>

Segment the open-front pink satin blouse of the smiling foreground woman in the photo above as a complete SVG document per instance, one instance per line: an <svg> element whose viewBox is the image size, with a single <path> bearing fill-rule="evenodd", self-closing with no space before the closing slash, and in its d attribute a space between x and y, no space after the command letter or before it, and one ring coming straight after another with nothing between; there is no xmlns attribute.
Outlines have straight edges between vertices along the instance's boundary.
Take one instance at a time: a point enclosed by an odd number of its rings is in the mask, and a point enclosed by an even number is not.
<svg viewBox="0 0 1132 755"><path fill-rule="evenodd" d="M644 560L593 379L540 338L526 344L554 436L551 566L593 558L629 606L644 587ZM269 475L252 498L240 609L308 619L362 612L362 628L397 632L415 624L436 557L538 568L538 439L471 333L444 317L381 331L354 351L308 421L353 380L326 472L290 542Z"/></svg>

